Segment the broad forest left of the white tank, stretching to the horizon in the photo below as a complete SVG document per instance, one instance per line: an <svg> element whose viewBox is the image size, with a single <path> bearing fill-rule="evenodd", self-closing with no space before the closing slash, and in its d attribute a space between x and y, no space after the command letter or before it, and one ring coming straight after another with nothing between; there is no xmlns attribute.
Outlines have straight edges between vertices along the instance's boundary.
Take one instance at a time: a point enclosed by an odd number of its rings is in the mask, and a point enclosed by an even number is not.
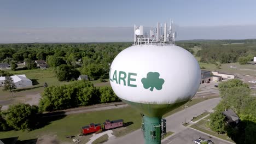
<svg viewBox="0 0 256 144"><path fill-rule="evenodd" d="M92 80L107 79L113 59L129 46L131 43L0 44L0 62L9 63L16 70L15 62L25 62L22 69L35 69L35 60L46 60L50 67L59 70L55 74L60 81L77 79L80 74Z"/></svg>

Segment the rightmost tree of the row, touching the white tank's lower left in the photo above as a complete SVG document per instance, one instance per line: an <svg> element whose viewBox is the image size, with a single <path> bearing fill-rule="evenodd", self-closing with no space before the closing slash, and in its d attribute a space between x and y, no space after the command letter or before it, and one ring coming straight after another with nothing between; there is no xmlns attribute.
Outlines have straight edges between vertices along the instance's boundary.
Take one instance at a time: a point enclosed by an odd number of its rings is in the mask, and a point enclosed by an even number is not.
<svg viewBox="0 0 256 144"><path fill-rule="evenodd" d="M110 101L118 101L119 98L115 95L113 89L109 86L100 87L101 103L109 103Z"/></svg>

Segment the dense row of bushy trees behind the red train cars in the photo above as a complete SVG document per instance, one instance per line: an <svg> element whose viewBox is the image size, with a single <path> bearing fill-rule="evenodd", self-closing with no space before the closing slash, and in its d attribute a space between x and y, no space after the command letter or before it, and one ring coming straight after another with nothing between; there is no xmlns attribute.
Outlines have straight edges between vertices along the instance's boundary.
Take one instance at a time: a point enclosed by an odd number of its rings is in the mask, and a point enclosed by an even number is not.
<svg viewBox="0 0 256 144"><path fill-rule="evenodd" d="M64 110L71 107L120 101L111 87L96 88L85 80L69 85L50 86L44 89L39 101L40 111Z"/></svg>

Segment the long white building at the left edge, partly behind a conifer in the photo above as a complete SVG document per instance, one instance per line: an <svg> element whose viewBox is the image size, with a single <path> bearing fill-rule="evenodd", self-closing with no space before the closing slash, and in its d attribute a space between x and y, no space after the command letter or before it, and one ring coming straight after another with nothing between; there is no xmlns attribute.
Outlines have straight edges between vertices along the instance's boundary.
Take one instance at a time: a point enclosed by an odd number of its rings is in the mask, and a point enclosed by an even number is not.
<svg viewBox="0 0 256 144"><path fill-rule="evenodd" d="M30 87L32 85L32 81L30 79L27 79L26 75L13 75L11 76L13 79L14 85L17 88L22 88L22 87ZM5 80L5 76L0 77L0 85L3 85Z"/></svg>

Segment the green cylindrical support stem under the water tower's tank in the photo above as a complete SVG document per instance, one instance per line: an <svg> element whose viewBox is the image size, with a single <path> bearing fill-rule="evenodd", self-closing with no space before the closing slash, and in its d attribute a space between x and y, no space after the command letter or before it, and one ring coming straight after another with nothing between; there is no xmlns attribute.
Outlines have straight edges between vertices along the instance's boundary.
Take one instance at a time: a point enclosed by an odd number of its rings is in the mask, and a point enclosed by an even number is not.
<svg viewBox="0 0 256 144"><path fill-rule="evenodd" d="M161 143L161 117L144 116L145 144Z"/></svg>

